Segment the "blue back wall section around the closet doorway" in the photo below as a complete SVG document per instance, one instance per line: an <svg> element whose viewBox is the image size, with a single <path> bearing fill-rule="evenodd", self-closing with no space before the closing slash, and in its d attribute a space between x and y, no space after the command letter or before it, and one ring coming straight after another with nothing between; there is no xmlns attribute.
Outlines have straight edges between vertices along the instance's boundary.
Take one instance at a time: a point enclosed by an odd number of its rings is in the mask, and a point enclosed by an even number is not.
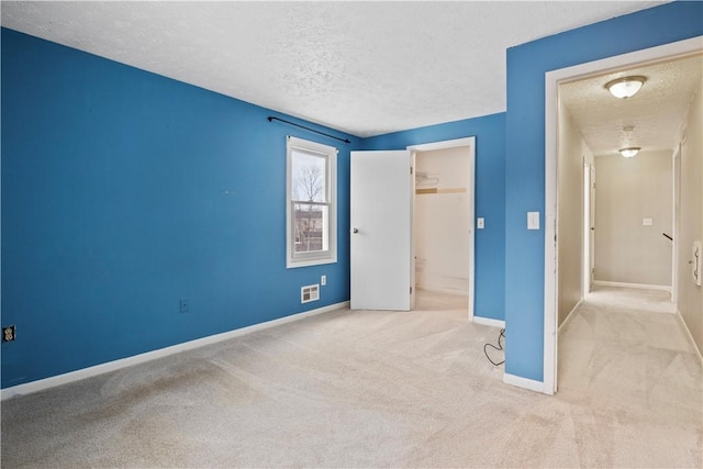
<svg viewBox="0 0 703 469"><path fill-rule="evenodd" d="M404 149L409 145L476 136L475 314L503 320L505 303L505 114L467 119L366 138L364 149Z"/></svg>

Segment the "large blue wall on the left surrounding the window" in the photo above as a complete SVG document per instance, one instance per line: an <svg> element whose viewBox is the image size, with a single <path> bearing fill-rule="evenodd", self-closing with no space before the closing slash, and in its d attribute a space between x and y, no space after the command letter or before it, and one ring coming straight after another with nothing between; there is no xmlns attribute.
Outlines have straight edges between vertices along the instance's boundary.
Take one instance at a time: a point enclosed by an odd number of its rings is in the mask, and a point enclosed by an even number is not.
<svg viewBox="0 0 703 469"><path fill-rule="evenodd" d="M348 300L358 138L7 29L1 44L3 388L298 313L322 273L313 308ZM287 134L341 150L337 264L286 269Z"/></svg>

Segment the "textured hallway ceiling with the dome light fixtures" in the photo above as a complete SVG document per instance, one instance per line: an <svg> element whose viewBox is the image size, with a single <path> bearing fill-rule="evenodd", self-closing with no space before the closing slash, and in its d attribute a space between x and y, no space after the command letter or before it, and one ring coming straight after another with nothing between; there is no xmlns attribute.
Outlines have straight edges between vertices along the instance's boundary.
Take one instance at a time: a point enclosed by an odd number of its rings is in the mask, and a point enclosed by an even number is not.
<svg viewBox="0 0 703 469"><path fill-rule="evenodd" d="M632 98L613 98L604 85L628 75L647 81ZM559 97L594 155L616 154L628 146L673 149L702 75L699 54L560 85ZM632 131L625 130L631 126Z"/></svg>

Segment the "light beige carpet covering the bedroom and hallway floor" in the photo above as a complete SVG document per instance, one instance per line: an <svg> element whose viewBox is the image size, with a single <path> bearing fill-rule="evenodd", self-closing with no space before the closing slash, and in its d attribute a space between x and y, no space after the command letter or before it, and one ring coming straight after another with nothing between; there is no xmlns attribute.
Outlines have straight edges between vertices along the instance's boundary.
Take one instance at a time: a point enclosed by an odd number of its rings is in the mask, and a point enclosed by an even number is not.
<svg viewBox="0 0 703 469"><path fill-rule="evenodd" d="M425 292L4 401L2 467L701 467L678 319L598 293L560 334L555 397L504 384L498 328Z"/></svg>

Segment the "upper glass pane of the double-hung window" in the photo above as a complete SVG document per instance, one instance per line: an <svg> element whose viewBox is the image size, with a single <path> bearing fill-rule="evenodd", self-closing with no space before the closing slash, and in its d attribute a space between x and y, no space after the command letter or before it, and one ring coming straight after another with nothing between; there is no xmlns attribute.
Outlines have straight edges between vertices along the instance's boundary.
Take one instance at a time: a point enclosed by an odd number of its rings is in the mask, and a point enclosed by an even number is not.
<svg viewBox="0 0 703 469"><path fill-rule="evenodd" d="M291 161L291 199L326 202L326 163L324 156L315 156L293 149Z"/></svg>

